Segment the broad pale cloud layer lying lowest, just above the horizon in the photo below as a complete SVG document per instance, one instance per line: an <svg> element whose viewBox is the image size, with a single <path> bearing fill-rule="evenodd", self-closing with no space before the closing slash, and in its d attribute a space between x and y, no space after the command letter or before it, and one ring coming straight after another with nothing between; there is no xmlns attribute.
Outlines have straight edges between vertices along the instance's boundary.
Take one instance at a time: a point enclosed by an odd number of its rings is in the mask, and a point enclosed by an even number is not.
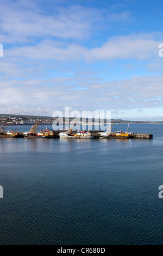
<svg viewBox="0 0 163 256"><path fill-rule="evenodd" d="M48 114L57 108L70 106L83 109L108 109L118 113L122 109L162 108L163 76L133 77L130 80L89 83L86 78L55 77L45 80L5 81L1 84L0 111L6 106L21 106L32 112L41 107ZM94 78L93 78L94 80ZM76 87L76 82L80 84ZM75 83L74 83L75 82ZM51 86L47 86L51 84ZM87 90L85 90L85 87ZM14 108L13 108L14 109ZM124 111L123 111L124 112ZM39 114L39 113L37 113Z"/></svg>

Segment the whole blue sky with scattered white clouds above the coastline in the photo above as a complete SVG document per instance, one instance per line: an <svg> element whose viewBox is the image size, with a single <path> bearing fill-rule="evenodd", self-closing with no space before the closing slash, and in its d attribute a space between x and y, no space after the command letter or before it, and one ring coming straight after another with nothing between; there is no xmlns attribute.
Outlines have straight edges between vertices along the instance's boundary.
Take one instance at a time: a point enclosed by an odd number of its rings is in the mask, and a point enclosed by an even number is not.
<svg viewBox="0 0 163 256"><path fill-rule="evenodd" d="M1 114L163 121L162 0L0 3Z"/></svg>

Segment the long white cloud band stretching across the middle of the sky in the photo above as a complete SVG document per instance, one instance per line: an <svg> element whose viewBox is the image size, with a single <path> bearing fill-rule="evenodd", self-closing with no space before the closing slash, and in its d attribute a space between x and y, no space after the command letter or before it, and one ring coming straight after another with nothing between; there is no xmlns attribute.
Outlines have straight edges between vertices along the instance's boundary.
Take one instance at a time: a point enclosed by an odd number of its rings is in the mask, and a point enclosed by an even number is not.
<svg viewBox="0 0 163 256"><path fill-rule="evenodd" d="M162 34L163 38L163 34ZM59 41L45 40L37 45L14 47L4 50L7 58L85 60L97 62L111 59L149 60L158 58L158 41L151 35L114 36L99 48L86 48L77 44L63 44Z"/></svg>

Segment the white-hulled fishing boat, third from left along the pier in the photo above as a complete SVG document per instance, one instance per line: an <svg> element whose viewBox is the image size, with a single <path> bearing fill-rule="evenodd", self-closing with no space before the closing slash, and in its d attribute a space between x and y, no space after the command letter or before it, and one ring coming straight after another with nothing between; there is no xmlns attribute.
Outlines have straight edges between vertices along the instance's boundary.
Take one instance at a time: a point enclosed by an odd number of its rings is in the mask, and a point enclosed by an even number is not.
<svg viewBox="0 0 163 256"><path fill-rule="evenodd" d="M74 124L73 124L74 126ZM66 132L60 132L59 137L60 138L75 138L75 139L89 139L89 138L94 138L94 135L91 135L91 132L89 131L77 131L77 133L72 133L72 127Z"/></svg>

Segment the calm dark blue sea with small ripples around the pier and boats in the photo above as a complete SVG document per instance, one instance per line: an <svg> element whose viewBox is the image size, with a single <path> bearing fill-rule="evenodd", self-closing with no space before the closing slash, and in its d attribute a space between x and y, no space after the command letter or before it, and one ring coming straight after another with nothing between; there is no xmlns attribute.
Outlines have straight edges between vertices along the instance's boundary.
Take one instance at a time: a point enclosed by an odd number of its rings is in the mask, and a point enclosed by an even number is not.
<svg viewBox="0 0 163 256"><path fill-rule="evenodd" d="M0 244L162 245L163 124L129 131L153 139L0 138Z"/></svg>

